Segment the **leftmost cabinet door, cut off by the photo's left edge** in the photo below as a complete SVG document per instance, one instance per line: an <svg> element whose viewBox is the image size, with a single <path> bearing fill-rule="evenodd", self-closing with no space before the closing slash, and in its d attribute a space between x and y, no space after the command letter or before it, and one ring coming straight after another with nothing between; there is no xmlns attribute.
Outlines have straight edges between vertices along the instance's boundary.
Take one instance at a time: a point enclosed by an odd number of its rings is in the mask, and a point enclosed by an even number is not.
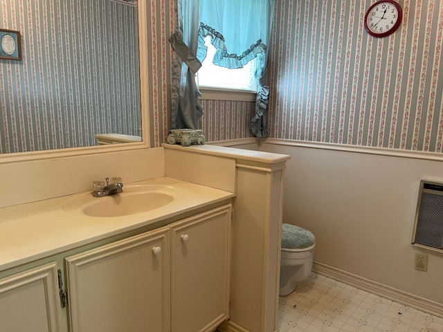
<svg viewBox="0 0 443 332"><path fill-rule="evenodd" d="M0 280L0 331L60 331L55 263Z"/></svg>

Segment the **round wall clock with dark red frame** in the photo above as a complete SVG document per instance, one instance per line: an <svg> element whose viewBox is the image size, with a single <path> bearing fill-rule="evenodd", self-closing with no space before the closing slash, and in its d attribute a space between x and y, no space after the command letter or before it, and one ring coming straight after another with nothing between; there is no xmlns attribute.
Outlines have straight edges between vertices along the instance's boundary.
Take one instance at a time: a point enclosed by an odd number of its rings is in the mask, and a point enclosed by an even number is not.
<svg viewBox="0 0 443 332"><path fill-rule="evenodd" d="M395 1L377 1L365 15L365 28L370 35L386 37L401 24L401 7Z"/></svg>

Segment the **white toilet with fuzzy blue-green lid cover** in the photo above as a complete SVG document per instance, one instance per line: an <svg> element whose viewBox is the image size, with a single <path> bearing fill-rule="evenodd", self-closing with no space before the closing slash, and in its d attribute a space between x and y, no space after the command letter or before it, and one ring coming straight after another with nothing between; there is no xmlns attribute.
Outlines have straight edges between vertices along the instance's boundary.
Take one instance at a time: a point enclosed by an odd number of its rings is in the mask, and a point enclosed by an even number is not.
<svg viewBox="0 0 443 332"><path fill-rule="evenodd" d="M292 293L296 289L297 282L309 277L315 246L316 238L309 230L283 223L278 295Z"/></svg>

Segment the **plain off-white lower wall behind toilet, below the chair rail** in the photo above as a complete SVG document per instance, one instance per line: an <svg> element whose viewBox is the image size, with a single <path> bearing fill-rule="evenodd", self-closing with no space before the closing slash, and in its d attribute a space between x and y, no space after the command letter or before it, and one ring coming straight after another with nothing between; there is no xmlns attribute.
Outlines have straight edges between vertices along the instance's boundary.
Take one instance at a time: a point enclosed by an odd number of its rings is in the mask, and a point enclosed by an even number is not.
<svg viewBox="0 0 443 332"><path fill-rule="evenodd" d="M337 151L273 141L260 150L291 156L284 221L315 234L315 261L443 304L443 255L425 250L428 272L419 272L413 268L419 249L411 244L419 181L443 182L442 157L429 154L436 160L424 160L361 153L368 148Z"/></svg>

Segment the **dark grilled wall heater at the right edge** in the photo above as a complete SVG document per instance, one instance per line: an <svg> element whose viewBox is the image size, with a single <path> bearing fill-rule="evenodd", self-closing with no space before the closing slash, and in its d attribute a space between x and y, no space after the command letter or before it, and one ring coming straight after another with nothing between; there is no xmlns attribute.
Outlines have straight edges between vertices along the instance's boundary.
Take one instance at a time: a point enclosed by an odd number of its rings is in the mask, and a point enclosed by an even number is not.
<svg viewBox="0 0 443 332"><path fill-rule="evenodd" d="M413 244L443 251L443 183L420 182Z"/></svg>

